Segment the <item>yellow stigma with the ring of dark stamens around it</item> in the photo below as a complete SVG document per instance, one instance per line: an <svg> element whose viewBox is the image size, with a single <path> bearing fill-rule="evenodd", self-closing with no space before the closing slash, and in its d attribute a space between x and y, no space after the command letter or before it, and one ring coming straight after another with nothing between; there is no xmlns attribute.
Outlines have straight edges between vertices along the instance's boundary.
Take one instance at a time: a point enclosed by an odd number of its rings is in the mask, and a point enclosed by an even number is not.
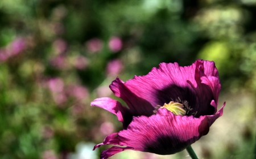
<svg viewBox="0 0 256 159"><path fill-rule="evenodd" d="M188 101L181 101L179 97L176 98L175 101L172 100L168 104L165 103L163 106L157 105L153 113L155 114L156 111L158 111L158 109L163 109L163 108L166 108L167 110L171 111L175 115L181 115L181 116L188 115L189 111L192 110L190 106L188 106ZM196 113L192 113L191 115L196 115Z"/></svg>

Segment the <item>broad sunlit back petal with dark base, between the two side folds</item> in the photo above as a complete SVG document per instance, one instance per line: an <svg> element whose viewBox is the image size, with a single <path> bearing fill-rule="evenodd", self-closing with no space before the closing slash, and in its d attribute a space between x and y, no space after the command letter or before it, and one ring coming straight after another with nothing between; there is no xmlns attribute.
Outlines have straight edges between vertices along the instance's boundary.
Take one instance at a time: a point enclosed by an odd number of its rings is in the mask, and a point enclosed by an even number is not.
<svg viewBox="0 0 256 159"><path fill-rule="evenodd" d="M124 84L136 96L150 102L152 106L169 103L178 97L196 103L196 93L187 80L195 82L195 65L180 67L177 63L160 63L159 68L152 70L145 76L135 76Z"/></svg>

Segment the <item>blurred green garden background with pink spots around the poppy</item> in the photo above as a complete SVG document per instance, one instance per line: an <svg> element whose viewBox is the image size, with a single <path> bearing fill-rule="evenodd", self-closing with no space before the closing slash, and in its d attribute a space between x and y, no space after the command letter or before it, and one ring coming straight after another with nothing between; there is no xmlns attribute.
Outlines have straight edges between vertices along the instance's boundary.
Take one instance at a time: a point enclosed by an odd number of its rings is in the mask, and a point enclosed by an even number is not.
<svg viewBox="0 0 256 159"><path fill-rule="evenodd" d="M90 106L160 62L216 62L224 115L199 158L255 158L256 0L1 0L0 158L96 159L115 115ZM110 158L189 158L125 151Z"/></svg>

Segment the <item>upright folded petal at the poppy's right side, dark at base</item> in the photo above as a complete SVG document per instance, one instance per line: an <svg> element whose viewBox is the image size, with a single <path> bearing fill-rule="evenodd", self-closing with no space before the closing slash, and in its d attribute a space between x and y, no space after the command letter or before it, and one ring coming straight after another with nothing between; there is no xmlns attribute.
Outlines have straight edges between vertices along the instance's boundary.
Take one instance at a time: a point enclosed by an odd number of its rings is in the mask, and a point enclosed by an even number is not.
<svg viewBox="0 0 256 159"><path fill-rule="evenodd" d="M195 81L196 84L188 80L197 94L199 104L193 107L197 110L195 117L200 115L212 115L217 111L218 94L221 85L218 79L218 71L214 62L197 60L195 62Z"/></svg>

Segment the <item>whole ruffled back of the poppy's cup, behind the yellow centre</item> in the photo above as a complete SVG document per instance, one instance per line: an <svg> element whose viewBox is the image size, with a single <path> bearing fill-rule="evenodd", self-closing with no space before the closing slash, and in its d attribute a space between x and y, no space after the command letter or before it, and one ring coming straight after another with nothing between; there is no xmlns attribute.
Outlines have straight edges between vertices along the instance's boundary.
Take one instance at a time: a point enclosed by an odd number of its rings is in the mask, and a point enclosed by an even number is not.
<svg viewBox="0 0 256 159"><path fill-rule="evenodd" d="M212 100L217 105L220 92L220 82L214 79L218 79L214 62L197 60L185 67L177 63L160 63L159 68L152 68L147 75L135 76L125 83L117 78L110 89L127 103L134 116L148 117L152 107L179 97L193 108L191 114L200 117L217 111L217 107L210 106Z"/></svg>

